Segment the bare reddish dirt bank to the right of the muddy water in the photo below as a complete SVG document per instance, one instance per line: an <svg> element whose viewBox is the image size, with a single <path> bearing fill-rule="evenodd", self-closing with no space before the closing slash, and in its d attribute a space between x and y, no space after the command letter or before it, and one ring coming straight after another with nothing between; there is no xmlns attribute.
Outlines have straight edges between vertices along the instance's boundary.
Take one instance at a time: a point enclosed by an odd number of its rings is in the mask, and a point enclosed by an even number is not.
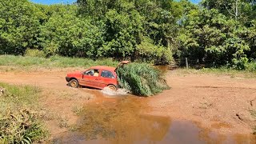
<svg viewBox="0 0 256 144"><path fill-rule="evenodd" d="M213 74L166 76L171 90L150 98L152 114L200 122L221 134L250 134L256 125L256 79Z"/></svg>

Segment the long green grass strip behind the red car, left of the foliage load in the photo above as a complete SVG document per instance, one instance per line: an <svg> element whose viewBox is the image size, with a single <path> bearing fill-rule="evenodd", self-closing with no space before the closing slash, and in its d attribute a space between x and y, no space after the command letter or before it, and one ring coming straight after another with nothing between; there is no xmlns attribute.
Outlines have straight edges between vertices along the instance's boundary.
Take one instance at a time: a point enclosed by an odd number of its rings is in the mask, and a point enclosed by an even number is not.
<svg viewBox="0 0 256 144"><path fill-rule="evenodd" d="M118 62L111 58L98 59L89 58L65 58L53 56L50 58L38 58L30 56L0 55L0 66L40 66L46 68L66 67L90 67L90 66L117 66Z"/></svg>

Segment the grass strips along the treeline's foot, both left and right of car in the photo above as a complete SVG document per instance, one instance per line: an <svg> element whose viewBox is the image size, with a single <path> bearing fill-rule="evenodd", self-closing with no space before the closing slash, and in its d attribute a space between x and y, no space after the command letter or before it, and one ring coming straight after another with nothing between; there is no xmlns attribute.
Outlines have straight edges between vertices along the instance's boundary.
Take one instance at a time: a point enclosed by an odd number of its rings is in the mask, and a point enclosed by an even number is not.
<svg viewBox="0 0 256 144"><path fill-rule="evenodd" d="M30 56L0 55L0 66L20 66L20 67L43 67L43 68L67 68L67 67L90 67L90 66L117 66L118 62L112 58L102 58L92 60L89 58L66 58L52 56L50 58L39 58ZM249 63L246 70L234 70L232 68L202 68L195 69L178 69L182 73L213 73L213 74L256 74L256 63Z"/></svg>

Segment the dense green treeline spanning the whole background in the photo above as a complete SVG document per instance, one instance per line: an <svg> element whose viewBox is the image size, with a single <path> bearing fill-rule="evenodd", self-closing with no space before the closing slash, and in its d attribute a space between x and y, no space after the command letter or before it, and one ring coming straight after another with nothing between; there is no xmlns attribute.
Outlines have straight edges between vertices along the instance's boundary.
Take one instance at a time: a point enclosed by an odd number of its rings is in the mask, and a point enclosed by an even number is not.
<svg viewBox="0 0 256 144"><path fill-rule="evenodd" d="M242 69L256 58L256 1L78 0L71 5L0 1L0 54L198 58Z"/></svg>

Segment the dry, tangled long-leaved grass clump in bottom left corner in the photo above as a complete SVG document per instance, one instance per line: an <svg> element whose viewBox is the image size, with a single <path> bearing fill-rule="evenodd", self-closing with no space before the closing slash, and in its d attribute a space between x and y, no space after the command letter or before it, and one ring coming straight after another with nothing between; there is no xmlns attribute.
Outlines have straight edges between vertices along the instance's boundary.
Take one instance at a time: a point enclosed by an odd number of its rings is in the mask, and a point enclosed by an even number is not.
<svg viewBox="0 0 256 144"><path fill-rule="evenodd" d="M0 143L32 143L46 138L46 130L31 110L20 110L0 118Z"/></svg>

